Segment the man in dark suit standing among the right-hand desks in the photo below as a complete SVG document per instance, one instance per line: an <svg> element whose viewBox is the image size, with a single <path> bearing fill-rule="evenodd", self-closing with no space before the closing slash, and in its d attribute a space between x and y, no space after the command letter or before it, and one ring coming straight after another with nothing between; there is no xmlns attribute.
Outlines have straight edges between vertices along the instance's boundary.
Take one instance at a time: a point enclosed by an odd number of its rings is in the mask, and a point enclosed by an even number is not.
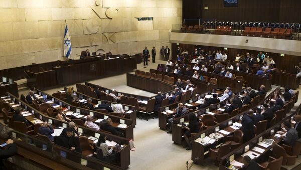
<svg viewBox="0 0 301 170"><path fill-rule="evenodd" d="M249 141L250 139L252 139L254 136L255 136L255 132L254 132L254 122L253 122L253 119L252 119L252 116L253 116L253 110L249 110L247 112L247 114L244 114L242 116L242 119L241 119L241 130L243 132L243 139L244 139L244 142L247 142Z"/></svg>

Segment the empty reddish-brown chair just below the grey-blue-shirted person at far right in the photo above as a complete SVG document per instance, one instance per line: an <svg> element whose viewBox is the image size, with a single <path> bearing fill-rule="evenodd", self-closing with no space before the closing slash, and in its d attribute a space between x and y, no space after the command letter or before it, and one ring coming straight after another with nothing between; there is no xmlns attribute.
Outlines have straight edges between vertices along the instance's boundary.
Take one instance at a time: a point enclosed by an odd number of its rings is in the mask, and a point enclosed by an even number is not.
<svg viewBox="0 0 301 170"><path fill-rule="evenodd" d="M296 162L297 156L288 155L282 146L274 143L273 144L273 157L275 157L275 158L283 157L282 165L294 165Z"/></svg>

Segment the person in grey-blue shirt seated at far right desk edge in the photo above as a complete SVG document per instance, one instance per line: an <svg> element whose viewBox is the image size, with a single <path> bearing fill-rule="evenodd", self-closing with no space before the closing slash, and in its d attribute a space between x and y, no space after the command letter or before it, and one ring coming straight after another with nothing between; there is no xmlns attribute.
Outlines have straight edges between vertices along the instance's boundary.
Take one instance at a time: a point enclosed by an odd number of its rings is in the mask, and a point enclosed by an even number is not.
<svg viewBox="0 0 301 170"><path fill-rule="evenodd" d="M298 140L298 132L296 129L291 127L290 122L283 122L284 128L286 129L286 135L281 135L280 139L283 139L284 144L288 146L293 146L295 141Z"/></svg>

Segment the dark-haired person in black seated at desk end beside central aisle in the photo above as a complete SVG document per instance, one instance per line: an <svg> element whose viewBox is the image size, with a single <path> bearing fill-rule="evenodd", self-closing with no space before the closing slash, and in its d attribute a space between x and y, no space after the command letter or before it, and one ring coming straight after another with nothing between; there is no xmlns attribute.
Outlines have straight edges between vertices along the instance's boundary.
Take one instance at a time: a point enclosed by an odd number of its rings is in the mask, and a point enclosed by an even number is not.
<svg viewBox="0 0 301 170"><path fill-rule="evenodd" d="M189 124L188 126L184 126L184 138L187 143L186 150L191 150L191 143L189 137L191 137L191 133L198 133L200 130L199 127L199 119L194 113L190 113L188 115Z"/></svg>

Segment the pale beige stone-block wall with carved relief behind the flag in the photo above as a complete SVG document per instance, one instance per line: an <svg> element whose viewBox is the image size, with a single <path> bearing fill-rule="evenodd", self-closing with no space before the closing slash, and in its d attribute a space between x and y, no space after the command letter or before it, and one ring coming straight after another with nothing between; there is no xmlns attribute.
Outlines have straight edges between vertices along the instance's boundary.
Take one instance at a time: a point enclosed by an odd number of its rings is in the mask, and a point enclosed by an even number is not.
<svg viewBox="0 0 301 170"><path fill-rule="evenodd" d="M153 21L137 18L153 17ZM140 53L169 45L182 0L0 0L0 69L64 60L68 25L72 59L81 51Z"/></svg>

